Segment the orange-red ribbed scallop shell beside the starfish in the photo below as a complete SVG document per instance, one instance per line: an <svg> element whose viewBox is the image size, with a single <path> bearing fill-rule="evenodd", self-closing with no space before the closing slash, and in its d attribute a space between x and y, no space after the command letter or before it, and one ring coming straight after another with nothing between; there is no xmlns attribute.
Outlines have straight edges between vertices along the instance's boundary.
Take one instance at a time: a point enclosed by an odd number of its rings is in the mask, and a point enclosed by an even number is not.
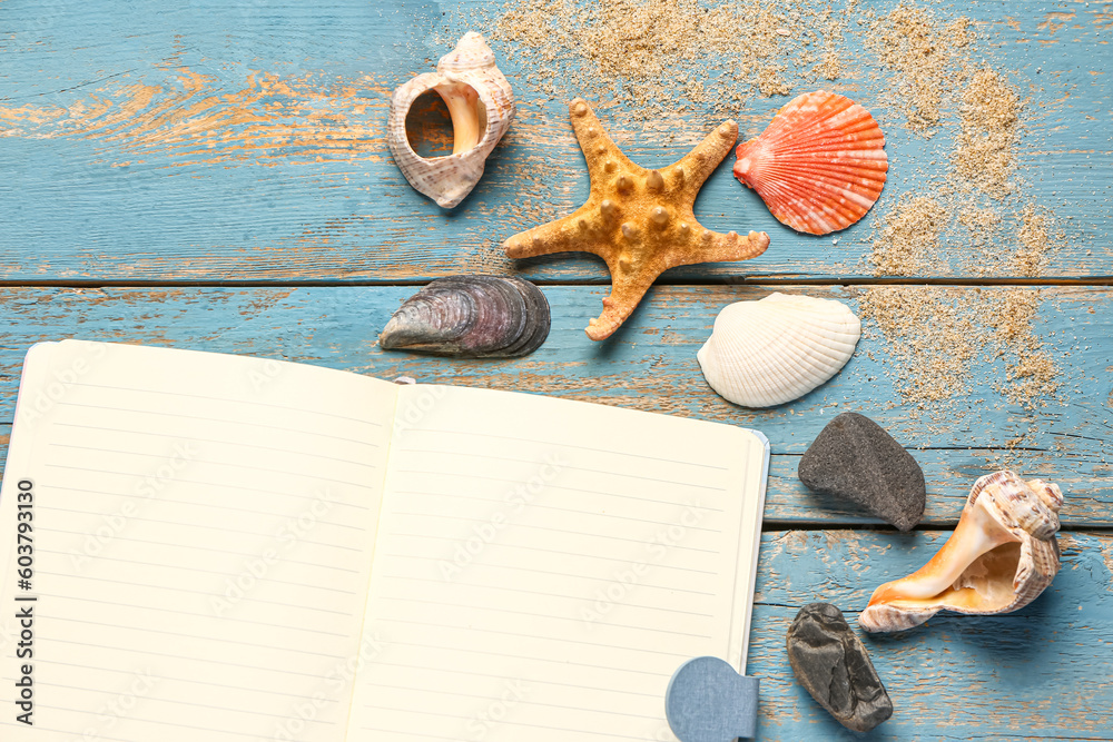
<svg viewBox="0 0 1113 742"><path fill-rule="evenodd" d="M782 224L811 235L864 217L889 169L885 135L869 111L826 90L790 100L735 155L735 177Z"/></svg>

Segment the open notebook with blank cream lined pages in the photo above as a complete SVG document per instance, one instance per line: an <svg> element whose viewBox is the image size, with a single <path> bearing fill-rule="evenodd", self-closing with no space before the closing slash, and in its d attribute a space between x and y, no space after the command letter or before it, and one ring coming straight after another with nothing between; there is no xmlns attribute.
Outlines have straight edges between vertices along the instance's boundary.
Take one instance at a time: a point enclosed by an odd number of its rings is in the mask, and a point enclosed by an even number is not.
<svg viewBox="0 0 1113 742"><path fill-rule="evenodd" d="M745 665L767 462L602 405L37 345L0 739L673 740L673 671Z"/></svg>

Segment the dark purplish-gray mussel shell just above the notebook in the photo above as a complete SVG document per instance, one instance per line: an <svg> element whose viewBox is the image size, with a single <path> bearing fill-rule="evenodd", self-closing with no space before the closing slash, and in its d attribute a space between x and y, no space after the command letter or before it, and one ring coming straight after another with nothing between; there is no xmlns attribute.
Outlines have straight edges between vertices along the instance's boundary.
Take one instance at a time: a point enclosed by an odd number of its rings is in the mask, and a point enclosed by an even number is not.
<svg viewBox="0 0 1113 742"><path fill-rule="evenodd" d="M540 348L549 325L549 301L528 280L450 276L406 299L378 345L459 358L511 358Z"/></svg>

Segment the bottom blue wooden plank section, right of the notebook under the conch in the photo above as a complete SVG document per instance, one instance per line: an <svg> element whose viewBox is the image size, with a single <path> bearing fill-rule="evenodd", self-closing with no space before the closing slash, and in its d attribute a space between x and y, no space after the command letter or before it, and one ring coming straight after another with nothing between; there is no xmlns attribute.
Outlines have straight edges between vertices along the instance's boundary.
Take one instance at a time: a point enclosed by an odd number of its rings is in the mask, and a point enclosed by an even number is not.
<svg viewBox="0 0 1113 742"><path fill-rule="evenodd" d="M910 574L948 534L767 533L748 674L761 677L761 740L1113 740L1113 534L1060 536L1043 595L998 616L936 616L898 634L856 633L893 700L869 735L847 732L792 676L785 633L800 606L838 605L851 626L873 590Z"/></svg>

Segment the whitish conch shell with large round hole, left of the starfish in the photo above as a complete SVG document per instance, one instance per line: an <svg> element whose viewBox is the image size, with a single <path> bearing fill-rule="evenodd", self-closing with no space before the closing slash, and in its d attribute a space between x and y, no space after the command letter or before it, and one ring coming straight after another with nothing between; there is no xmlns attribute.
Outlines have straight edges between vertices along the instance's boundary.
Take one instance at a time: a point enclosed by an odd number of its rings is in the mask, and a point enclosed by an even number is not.
<svg viewBox="0 0 1113 742"><path fill-rule="evenodd" d="M410 108L429 90L444 99L452 116L452 155L446 157L421 157L406 137ZM469 31L441 58L436 72L418 75L394 91L386 141L410 185L451 209L480 181L514 113L514 93L495 67L494 52L482 36Z"/></svg>

